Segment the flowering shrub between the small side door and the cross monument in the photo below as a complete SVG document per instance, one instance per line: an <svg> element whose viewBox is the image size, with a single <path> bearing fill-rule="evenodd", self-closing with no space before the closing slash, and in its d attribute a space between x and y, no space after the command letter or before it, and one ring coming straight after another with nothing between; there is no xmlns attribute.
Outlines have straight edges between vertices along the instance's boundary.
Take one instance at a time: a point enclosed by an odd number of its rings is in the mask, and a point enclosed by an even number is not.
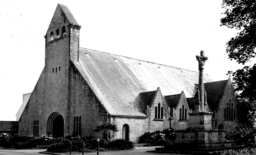
<svg viewBox="0 0 256 155"><path fill-rule="evenodd" d="M140 136L140 143L149 143L150 145L156 146L164 144L173 144L175 140L174 129L164 129L163 131L145 132L144 135Z"/></svg>

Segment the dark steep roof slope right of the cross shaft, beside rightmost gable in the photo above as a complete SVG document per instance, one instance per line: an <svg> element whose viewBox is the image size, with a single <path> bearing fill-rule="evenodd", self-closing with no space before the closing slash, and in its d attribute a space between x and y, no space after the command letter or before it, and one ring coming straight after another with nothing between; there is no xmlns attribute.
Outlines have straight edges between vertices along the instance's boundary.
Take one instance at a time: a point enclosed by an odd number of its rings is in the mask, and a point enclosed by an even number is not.
<svg viewBox="0 0 256 155"><path fill-rule="evenodd" d="M216 111L227 82L228 80L204 83L204 89L207 93L207 104L212 111Z"/></svg>

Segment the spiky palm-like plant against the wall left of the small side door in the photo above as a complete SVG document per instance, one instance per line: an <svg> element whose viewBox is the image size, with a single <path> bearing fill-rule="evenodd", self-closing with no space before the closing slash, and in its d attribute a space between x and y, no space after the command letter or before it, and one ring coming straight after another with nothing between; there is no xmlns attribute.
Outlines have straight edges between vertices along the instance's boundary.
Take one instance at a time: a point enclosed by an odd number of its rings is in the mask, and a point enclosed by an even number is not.
<svg viewBox="0 0 256 155"><path fill-rule="evenodd" d="M109 131L119 131L117 130L117 126L115 124L111 124L111 123L99 123L97 125L95 125L97 129L94 129L93 131L95 132L102 132L102 138L108 140L108 132Z"/></svg>

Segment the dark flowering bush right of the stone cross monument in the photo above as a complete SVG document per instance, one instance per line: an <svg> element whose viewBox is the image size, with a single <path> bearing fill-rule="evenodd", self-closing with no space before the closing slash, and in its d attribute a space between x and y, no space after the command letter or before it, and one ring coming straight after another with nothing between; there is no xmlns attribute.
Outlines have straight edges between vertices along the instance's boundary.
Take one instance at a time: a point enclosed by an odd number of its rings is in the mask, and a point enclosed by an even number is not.
<svg viewBox="0 0 256 155"><path fill-rule="evenodd" d="M255 129L239 128L226 135L226 139L234 140L237 144L247 145L255 143Z"/></svg>

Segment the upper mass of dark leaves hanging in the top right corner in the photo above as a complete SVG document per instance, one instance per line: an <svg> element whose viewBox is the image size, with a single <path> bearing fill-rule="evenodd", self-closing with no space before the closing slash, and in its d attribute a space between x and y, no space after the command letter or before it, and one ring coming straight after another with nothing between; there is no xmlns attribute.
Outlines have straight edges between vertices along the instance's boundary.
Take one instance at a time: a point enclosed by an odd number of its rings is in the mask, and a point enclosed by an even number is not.
<svg viewBox="0 0 256 155"><path fill-rule="evenodd" d="M221 25L228 28L241 30L235 38L227 42L229 59L244 64L256 56L256 11L255 0L223 0L222 8L225 8Z"/></svg>

